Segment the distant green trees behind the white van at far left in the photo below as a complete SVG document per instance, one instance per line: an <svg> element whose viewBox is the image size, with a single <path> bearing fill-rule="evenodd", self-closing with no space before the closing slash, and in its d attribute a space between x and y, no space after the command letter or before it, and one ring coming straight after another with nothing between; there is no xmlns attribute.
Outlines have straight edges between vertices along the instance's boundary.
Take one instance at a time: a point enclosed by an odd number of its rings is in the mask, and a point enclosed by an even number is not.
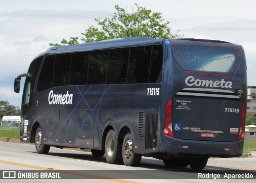
<svg viewBox="0 0 256 183"><path fill-rule="evenodd" d="M10 105L6 100L0 100L0 120L3 116L19 116L20 108L14 105Z"/></svg>

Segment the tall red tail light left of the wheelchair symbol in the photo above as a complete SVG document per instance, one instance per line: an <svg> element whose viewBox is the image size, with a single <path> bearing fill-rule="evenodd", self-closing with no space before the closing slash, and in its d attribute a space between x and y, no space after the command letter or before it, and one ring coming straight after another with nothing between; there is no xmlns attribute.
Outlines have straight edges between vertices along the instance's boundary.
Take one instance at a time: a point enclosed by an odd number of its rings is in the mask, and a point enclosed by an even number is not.
<svg viewBox="0 0 256 183"><path fill-rule="evenodd" d="M172 98L165 104L165 127L164 134L173 137L172 132Z"/></svg>

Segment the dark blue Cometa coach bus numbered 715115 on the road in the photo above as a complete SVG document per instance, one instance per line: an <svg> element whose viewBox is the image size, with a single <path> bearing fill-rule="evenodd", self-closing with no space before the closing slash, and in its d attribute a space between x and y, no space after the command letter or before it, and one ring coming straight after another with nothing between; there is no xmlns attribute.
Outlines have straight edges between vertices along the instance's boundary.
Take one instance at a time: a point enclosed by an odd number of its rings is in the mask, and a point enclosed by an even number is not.
<svg viewBox="0 0 256 183"><path fill-rule="evenodd" d="M247 77L241 45L203 39L120 38L50 47L14 81L21 142L90 149L108 163L141 157L203 169L238 157Z"/></svg>

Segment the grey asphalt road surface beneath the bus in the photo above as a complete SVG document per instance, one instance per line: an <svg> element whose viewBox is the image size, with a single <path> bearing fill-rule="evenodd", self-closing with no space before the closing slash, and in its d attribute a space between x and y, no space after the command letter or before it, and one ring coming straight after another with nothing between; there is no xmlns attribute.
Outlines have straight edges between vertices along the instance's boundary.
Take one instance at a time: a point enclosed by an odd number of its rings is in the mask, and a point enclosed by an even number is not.
<svg viewBox="0 0 256 183"><path fill-rule="evenodd" d="M53 172L54 170L61 170L60 177L62 177L62 179L50 180L0 179L0 182L206 182L206 179L198 179L200 173L201 175L212 175L210 177L212 179L207 179L207 182L234 183L238 180L213 178L220 174L224 175L224 173L228 175L254 173L254 179L244 179L242 182L255 182L256 153L252 152L252 155L253 157L246 158L210 158L202 171L192 171L189 166L170 169L161 160L149 157L143 157L138 167L127 167L108 164L104 156L93 157L90 152L51 148L47 155L42 155L37 154L35 147L30 144L0 142L0 172L5 171L6 173L6 171L15 170L16 172L31 173L34 171ZM79 179L66 179L72 176Z"/></svg>

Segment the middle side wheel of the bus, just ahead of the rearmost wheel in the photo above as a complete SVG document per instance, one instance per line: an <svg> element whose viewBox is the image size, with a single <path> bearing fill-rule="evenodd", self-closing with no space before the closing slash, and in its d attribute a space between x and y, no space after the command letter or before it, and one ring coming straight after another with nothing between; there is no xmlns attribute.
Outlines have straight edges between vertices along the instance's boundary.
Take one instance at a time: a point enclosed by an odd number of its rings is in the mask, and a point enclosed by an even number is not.
<svg viewBox="0 0 256 183"><path fill-rule="evenodd" d="M110 130L105 141L105 157L110 164L119 164L122 162L121 147L119 140L116 140L115 132Z"/></svg>

